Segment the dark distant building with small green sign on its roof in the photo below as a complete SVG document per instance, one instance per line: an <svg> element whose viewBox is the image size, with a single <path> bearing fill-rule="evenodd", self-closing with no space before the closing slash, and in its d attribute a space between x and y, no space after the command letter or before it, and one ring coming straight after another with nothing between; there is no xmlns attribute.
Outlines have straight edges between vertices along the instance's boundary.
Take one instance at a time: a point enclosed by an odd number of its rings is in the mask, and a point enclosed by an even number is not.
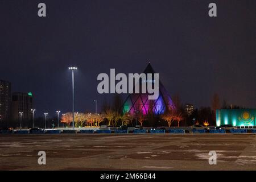
<svg viewBox="0 0 256 182"><path fill-rule="evenodd" d="M11 99L11 115L14 121L20 118L19 112L22 112L22 121L32 119L31 109L33 108L32 93L13 93Z"/></svg>

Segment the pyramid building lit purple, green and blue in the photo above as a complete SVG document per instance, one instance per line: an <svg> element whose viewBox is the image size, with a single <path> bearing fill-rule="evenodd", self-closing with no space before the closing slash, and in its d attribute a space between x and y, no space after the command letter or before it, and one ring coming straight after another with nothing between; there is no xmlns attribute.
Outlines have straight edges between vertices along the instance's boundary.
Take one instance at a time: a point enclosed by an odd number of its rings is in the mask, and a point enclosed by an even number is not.
<svg viewBox="0 0 256 182"><path fill-rule="evenodd" d="M147 76L147 73L152 73L154 76L154 69L151 67L151 64L148 63L147 68L144 73ZM153 79L154 80L154 77ZM138 84L142 82L148 82L152 80L140 80ZM152 81L154 83L154 81ZM153 84L154 85L154 84ZM164 88L162 82L159 80L159 96L156 100L148 100L148 93L132 93L126 98L122 110L123 113L129 113L135 115L136 113L153 113L153 114L162 114L166 109L176 109L174 103L171 100L170 95L167 90Z"/></svg>

